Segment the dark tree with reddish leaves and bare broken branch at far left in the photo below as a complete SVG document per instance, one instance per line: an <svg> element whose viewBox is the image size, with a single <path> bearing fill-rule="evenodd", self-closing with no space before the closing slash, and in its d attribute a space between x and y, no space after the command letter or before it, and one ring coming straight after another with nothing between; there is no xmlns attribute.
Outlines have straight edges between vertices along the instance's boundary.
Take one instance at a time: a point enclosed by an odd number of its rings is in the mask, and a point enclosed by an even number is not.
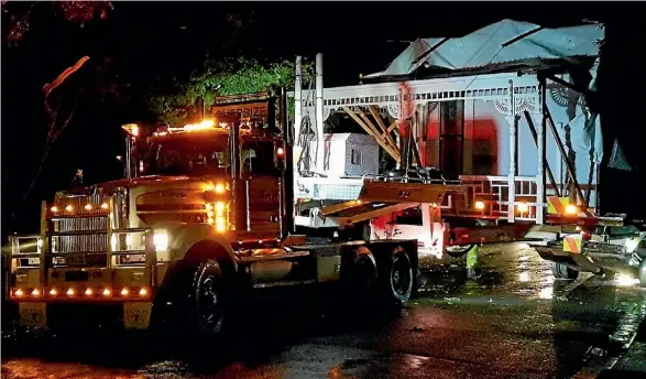
<svg viewBox="0 0 646 379"><path fill-rule="evenodd" d="M111 73L107 69L108 59L95 57L90 61L89 56L85 56L84 53L79 54L83 56L79 58L77 52L65 50L65 45L69 41L59 39L65 31L84 29L95 20L106 19L113 7L110 1L41 1L31 3L2 1L1 8L3 44L9 47L7 50L7 61L3 59L3 63L6 63L3 68L13 75L13 78L8 80L8 86L12 93L17 94L18 101L24 101L23 99L25 98L35 100L23 102L19 107L22 110L12 113L13 121L15 122L17 116L21 117L20 112L24 112L24 109L33 110L34 113L42 111L45 116L43 119L40 117L31 118L32 121L37 120L37 122L43 120L45 126L43 144L37 142L37 137L32 140L32 145L40 150L40 159L34 161L34 164L37 164L33 171L34 174L32 175L32 171L29 169L24 170L25 167L22 164L6 169L6 176L10 176L9 170L13 170L12 178L22 176L24 180L24 186L23 183L14 180L11 183L13 196L20 199L11 202L9 206L11 208L11 219L8 224L10 225L9 232L11 232L15 227L17 212L22 210L32 194L50 152L67 129L79 102L89 99L88 95L95 95L97 91L103 98L117 91L114 82L109 78ZM53 28L57 29L54 30ZM55 45L53 45L53 42L55 42ZM79 47L83 51L88 48L89 45ZM51 56L51 51L58 53L58 48L62 52L56 56ZM64 53L67 54L64 55ZM32 69L28 72L23 68L24 66L30 66L30 61L42 63L39 65L39 71ZM88 61L90 62L88 63ZM62 69L59 66L67 66L70 62L76 62L76 64L66 69ZM3 72L6 72L4 69ZM52 80L52 76L55 77L54 80ZM50 80L52 82L50 83ZM37 100L39 89L42 90L43 102ZM29 124L30 122L28 121L26 123ZM37 123L32 124L36 126ZM30 138L39 136L39 132L37 129L32 131ZM24 173L22 173L23 171Z"/></svg>

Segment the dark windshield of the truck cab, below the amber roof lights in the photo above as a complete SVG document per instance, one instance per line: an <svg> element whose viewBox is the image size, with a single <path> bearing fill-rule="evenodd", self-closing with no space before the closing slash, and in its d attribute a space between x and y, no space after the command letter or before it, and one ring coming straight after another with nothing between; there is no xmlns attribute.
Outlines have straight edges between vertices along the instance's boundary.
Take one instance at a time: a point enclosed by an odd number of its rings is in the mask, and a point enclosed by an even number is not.
<svg viewBox="0 0 646 379"><path fill-rule="evenodd" d="M223 174L230 166L229 138L191 136L153 140L149 143L144 162L149 175Z"/></svg>

